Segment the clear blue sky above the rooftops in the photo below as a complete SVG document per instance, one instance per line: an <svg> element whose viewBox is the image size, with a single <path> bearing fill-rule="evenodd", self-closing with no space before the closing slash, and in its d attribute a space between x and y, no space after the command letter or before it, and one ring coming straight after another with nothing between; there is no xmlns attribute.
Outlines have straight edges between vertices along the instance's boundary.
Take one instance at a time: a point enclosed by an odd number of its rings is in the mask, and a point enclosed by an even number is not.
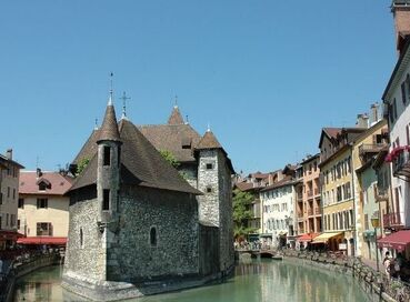
<svg viewBox="0 0 410 302"><path fill-rule="evenodd" d="M166 123L178 95L237 172L317 153L352 127L397 61L389 0L18 0L0 2L0 153L28 170L71 162L114 104Z"/></svg>

